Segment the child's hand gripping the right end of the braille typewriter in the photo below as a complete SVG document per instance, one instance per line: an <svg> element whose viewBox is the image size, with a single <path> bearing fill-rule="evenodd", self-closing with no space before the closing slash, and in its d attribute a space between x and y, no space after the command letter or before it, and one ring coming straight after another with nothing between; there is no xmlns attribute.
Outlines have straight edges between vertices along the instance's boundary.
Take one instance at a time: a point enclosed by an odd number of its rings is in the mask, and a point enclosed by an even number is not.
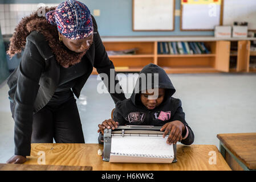
<svg viewBox="0 0 256 182"><path fill-rule="evenodd" d="M170 132L169 137L166 140L166 143L168 144L176 144L177 142L180 142L182 140L182 131L184 130L184 124L178 120L166 123L160 129L160 131L164 131L164 134L162 135L164 138Z"/></svg>

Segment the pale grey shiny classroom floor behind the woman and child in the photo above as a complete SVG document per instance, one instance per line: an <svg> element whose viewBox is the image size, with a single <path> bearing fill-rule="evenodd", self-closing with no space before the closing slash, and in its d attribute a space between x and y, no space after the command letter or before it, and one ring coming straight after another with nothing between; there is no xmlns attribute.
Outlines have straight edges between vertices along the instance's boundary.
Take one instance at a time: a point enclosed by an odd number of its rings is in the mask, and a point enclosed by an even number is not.
<svg viewBox="0 0 256 182"><path fill-rule="evenodd" d="M219 133L256 132L256 74L169 75L194 131L194 144L219 146ZM77 101L86 143L97 143L97 124L111 117L114 108L109 94L97 93L96 76L91 76ZM129 83L131 85L131 83ZM14 152L14 122L8 86L0 89L0 163ZM127 94L129 97L130 94Z"/></svg>

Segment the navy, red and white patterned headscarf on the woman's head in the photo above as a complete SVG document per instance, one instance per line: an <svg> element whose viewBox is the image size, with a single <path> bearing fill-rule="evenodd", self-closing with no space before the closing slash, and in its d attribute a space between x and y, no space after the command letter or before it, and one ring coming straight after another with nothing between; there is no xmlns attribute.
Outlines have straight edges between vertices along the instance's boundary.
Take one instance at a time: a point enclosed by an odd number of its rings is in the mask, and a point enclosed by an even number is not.
<svg viewBox="0 0 256 182"><path fill-rule="evenodd" d="M84 39L94 32L90 10L79 1L60 3L55 10L46 13L46 19L68 39Z"/></svg>

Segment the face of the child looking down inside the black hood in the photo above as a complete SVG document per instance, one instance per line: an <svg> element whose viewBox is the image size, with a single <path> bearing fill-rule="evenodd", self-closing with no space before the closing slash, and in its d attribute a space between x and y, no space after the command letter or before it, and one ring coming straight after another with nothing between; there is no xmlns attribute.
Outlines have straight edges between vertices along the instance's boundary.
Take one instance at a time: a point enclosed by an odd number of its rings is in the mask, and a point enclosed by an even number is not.
<svg viewBox="0 0 256 182"><path fill-rule="evenodd" d="M154 93L148 93L148 90L146 93L141 93L140 94L140 100L142 104L147 107L147 109L155 109L155 107L159 106L162 101L164 100L164 94L165 94L165 89L159 89L159 95L157 98L151 98Z"/></svg>

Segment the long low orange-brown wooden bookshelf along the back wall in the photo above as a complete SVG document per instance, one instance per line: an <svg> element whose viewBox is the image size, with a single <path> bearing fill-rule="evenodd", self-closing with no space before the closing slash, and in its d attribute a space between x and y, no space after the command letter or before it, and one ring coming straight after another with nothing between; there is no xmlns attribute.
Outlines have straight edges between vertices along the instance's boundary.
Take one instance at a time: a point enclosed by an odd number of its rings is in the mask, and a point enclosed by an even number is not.
<svg viewBox="0 0 256 182"><path fill-rule="evenodd" d="M116 72L140 72L149 63L159 65L166 73L256 72L256 68L249 68L250 56L256 58L256 51L250 51L250 41L256 38L222 40L214 37L108 37L101 39L106 51L138 48L134 55L109 55ZM159 42L202 42L210 53L159 54L157 47ZM234 63L230 63L232 60L235 60ZM97 74L95 68L92 74Z"/></svg>

